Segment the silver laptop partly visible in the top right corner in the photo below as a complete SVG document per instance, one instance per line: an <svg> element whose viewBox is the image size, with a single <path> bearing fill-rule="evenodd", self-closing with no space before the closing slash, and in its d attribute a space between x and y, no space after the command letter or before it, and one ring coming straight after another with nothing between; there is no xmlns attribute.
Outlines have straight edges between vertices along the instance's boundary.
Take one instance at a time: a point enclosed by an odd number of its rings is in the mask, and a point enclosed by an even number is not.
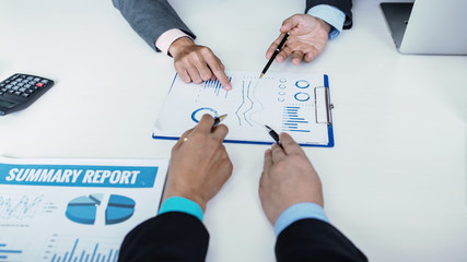
<svg viewBox="0 0 467 262"><path fill-rule="evenodd" d="M467 55L467 0L381 3L401 53Z"/></svg>

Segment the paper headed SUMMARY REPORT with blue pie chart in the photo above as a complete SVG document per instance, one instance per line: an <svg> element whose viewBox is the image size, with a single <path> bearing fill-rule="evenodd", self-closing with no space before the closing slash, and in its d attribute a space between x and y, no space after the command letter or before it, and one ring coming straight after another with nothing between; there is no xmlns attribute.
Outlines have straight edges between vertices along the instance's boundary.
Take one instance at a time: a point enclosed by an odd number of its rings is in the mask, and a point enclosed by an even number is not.
<svg viewBox="0 0 467 262"><path fill-rule="evenodd" d="M0 261L117 261L156 215L167 165L0 157Z"/></svg>

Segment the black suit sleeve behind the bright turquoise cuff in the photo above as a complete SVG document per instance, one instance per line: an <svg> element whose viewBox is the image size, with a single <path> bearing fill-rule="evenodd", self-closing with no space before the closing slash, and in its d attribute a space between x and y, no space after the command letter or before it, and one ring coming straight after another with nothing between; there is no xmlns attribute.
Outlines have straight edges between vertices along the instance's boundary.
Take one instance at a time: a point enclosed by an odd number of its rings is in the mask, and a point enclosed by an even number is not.
<svg viewBox="0 0 467 262"><path fill-rule="evenodd" d="M168 212L132 229L121 243L118 261L205 261L209 234L192 215Z"/></svg>

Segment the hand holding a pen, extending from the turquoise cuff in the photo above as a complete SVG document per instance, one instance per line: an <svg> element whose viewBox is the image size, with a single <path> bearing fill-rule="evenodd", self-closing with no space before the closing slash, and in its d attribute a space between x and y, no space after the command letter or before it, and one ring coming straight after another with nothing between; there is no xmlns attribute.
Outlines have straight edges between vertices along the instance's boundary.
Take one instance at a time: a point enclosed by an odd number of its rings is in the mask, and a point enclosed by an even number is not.
<svg viewBox="0 0 467 262"><path fill-rule="evenodd" d="M198 203L202 211L232 175L232 163L222 141L227 127L212 129L214 119L202 116L199 123L186 131L172 148L163 200L183 196Z"/></svg>

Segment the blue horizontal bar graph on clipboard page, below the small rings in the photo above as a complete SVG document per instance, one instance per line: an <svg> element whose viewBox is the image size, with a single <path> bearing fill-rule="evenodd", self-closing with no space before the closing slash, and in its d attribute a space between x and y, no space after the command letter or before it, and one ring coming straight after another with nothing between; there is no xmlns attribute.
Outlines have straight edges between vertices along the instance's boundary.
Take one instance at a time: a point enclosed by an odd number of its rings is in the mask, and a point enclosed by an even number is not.
<svg viewBox="0 0 467 262"><path fill-rule="evenodd" d="M306 109L297 106L285 106L282 111L282 131L310 132Z"/></svg>

